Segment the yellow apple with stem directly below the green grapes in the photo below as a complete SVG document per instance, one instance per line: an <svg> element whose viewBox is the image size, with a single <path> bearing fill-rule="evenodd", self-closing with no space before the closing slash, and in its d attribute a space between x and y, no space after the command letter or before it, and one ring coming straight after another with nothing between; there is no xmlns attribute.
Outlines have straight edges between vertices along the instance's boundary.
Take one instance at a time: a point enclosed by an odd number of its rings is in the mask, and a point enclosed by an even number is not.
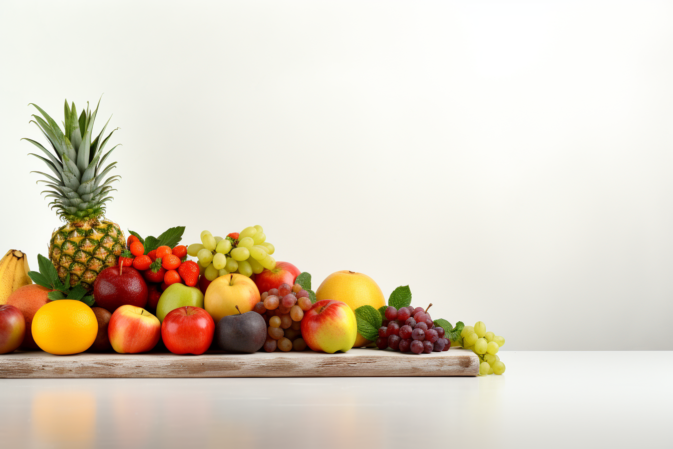
<svg viewBox="0 0 673 449"><path fill-rule="evenodd" d="M252 279L238 273L229 273L211 282L203 303L213 320L219 322L223 316L250 312L259 301L259 290ZM240 312L236 310L236 306Z"/></svg>

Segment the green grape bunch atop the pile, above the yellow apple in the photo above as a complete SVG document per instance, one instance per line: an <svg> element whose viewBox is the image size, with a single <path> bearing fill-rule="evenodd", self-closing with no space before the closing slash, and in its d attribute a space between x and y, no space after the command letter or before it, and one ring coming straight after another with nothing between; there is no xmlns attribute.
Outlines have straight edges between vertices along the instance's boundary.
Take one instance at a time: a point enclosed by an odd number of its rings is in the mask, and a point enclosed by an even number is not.
<svg viewBox="0 0 673 449"><path fill-rule="evenodd" d="M274 269L276 260L271 256L273 245L261 226L248 226L241 232L232 232L225 238L213 237L210 231L201 232L201 243L192 243L187 254L199 258L201 275L209 281L229 273L250 277L264 269Z"/></svg>

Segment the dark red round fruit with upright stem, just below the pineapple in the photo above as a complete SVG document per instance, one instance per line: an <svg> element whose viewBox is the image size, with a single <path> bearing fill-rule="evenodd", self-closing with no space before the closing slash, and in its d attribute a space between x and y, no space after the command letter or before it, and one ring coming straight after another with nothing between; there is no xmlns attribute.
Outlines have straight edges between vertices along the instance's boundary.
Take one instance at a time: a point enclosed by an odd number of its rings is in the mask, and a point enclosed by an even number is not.
<svg viewBox="0 0 673 449"><path fill-rule="evenodd" d="M94 299L110 313L125 304L143 308L147 305L147 283L133 267L123 268L121 275L118 266L108 267L96 277Z"/></svg>

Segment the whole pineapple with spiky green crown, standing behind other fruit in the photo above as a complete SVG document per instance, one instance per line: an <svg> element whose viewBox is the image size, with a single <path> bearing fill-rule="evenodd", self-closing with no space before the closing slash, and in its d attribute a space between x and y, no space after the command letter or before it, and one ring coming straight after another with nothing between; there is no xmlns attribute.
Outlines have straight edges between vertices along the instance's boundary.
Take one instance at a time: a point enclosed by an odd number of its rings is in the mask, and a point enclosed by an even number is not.
<svg viewBox="0 0 673 449"><path fill-rule="evenodd" d="M100 105L100 100L98 104ZM65 282L69 274L70 285L81 282L90 291L98 273L106 267L116 265L126 243L119 226L103 218L106 202L112 199L109 194L116 190L110 184L120 178L110 176L103 180L116 166L116 162L112 162L103 168L103 163L117 145L105 154L103 149L116 130L104 137L105 129L110 123L108 119L98 137L92 141L98 106L92 113L88 103L87 110L82 110L78 119L75 103L69 107L68 100L65 100L64 131L61 131L61 127L40 106L32 105L44 118L33 114L35 120L30 121L40 128L51 144L53 153L32 139L26 140L46 154L47 158L44 158L31 153L43 160L55 176L43 172L34 173L46 176L46 180L40 181L53 190L42 193L47 194L45 197L54 198L49 205L67 222L53 232L49 242L49 258L57 269L61 282Z"/></svg>

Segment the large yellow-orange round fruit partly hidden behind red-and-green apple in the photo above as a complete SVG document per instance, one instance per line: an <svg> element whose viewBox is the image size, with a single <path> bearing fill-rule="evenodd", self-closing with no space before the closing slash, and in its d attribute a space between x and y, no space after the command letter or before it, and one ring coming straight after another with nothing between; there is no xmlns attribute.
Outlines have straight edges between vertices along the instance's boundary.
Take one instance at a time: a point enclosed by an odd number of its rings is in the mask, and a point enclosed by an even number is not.
<svg viewBox="0 0 673 449"><path fill-rule="evenodd" d="M374 279L348 270L337 271L326 277L316 290L316 300L343 301L353 312L359 306L371 306L378 310L386 305L386 298ZM353 347L369 343L369 340L358 333Z"/></svg>

